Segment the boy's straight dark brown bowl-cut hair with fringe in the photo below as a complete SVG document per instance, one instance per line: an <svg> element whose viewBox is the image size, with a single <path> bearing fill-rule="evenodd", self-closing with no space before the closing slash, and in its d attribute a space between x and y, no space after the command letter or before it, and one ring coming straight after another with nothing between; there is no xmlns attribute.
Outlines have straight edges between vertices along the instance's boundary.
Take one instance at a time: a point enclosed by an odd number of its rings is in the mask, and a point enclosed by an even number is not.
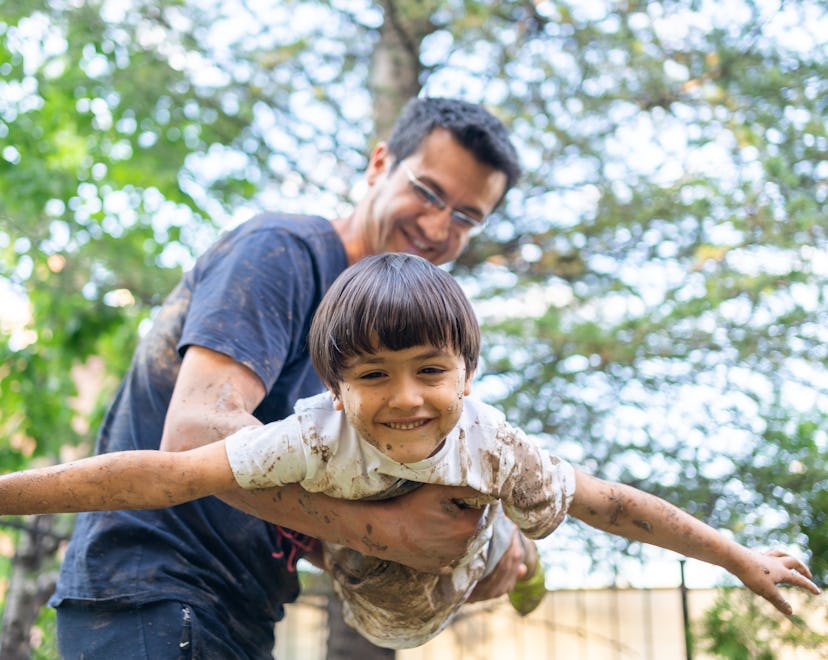
<svg viewBox="0 0 828 660"><path fill-rule="evenodd" d="M366 257L345 270L322 298L309 334L319 377L339 394L348 363L379 350L430 344L477 367L480 328L455 279L421 257Z"/></svg>

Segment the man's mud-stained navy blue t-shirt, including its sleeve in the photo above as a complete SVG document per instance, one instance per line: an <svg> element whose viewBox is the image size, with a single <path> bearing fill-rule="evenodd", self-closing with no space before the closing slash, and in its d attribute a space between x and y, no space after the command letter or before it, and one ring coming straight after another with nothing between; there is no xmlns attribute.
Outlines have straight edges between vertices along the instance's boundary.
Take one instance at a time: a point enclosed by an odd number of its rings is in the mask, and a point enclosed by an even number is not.
<svg viewBox="0 0 828 660"><path fill-rule="evenodd" d="M322 295L346 268L330 222L262 214L225 234L170 294L142 339L109 409L96 453L157 449L190 345L229 355L261 378L263 423L322 389L307 335ZM152 484L147 484L152 488ZM275 527L214 497L156 511L80 514L57 589L120 607L181 600L215 607L242 637L272 634L299 585ZM268 629L269 628L269 629Z"/></svg>

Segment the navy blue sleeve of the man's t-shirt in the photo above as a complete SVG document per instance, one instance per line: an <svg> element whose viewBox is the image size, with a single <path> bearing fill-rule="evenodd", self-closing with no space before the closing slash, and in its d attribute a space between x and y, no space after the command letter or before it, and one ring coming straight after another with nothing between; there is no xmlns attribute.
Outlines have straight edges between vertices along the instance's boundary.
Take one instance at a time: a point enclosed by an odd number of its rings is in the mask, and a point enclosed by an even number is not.
<svg viewBox="0 0 828 660"><path fill-rule="evenodd" d="M194 271L178 350L223 353L250 368L269 390L304 342L318 283L301 240L251 231L219 241Z"/></svg>

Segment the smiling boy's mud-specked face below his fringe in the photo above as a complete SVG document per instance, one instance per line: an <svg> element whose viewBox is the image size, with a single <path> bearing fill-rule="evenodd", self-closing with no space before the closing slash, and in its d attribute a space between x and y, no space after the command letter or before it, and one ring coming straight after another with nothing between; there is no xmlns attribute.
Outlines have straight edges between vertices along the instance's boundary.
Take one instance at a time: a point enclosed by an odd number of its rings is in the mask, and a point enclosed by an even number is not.
<svg viewBox="0 0 828 660"><path fill-rule="evenodd" d="M457 424L472 375L451 349L383 348L348 365L334 405L381 452L413 463L433 454Z"/></svg>

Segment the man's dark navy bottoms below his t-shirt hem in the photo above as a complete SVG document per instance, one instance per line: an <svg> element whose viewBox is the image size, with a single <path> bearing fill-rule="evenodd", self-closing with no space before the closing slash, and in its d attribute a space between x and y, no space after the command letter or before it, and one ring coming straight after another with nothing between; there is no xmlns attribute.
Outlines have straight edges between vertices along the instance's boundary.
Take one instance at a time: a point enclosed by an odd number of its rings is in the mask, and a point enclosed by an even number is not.
<svg viewBox="0 0 828 660"><path fill-rule="evenodd" d="M234 639L209 611L172 600L127 609L64 601L57 633L62 660L270 660L274 645L272 632Z"/></svg>

